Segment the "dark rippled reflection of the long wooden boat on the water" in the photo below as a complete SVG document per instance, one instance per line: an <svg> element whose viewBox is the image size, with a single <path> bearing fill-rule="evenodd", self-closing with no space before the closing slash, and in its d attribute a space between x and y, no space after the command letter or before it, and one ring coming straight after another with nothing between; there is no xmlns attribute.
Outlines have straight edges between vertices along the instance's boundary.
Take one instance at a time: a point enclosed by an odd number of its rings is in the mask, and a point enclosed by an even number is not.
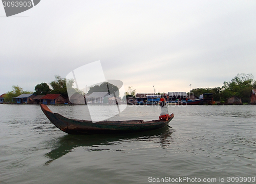
<svg viewBox="0 0 256 184"><path fill-rule="evenodd" d="M50 164L53 160L66 155L76 147L98 147L102 145L117 145L123 142L157 142L160 147L167 148L172 142L171 134L174 129L168 127L159 130L152 130L138 133L126 134L102 134L102 135L64 135L58 137L56 140L49 142L53 144L51 147L55 149L48 152L45 156L49 158L45 165ZM102 151L102 149L86 149L86 151ZM105 149L104 149L105 150Z"/></svg>

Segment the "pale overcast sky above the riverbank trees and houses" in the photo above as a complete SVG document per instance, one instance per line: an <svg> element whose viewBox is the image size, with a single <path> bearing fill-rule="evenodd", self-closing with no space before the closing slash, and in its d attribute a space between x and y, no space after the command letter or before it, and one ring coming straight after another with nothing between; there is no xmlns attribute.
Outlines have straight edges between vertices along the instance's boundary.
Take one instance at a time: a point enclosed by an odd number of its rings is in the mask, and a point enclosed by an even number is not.
<svg viewBox="0 0 256 184"><path fill-rule="evenodd" d="M254 0L41 0L6 17L0 4L0 95L98 60L106 79L136 93L256 78L255 10Z"/></svg>

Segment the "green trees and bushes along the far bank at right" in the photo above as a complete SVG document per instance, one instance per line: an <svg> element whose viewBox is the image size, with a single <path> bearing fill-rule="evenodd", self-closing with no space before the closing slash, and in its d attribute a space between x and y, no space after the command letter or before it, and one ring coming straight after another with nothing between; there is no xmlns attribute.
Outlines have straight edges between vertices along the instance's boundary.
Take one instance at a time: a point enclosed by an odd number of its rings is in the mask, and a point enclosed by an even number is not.
<svg viewBox="0 0 256 184"><path fill-rule="evenodd" d="M237 96L243 103L249 103L252 89L256 89L256 81L253 80L252 74L242 73L229 82L223 82L222 87L193 88L190 93L198 97L201 94L213 94L214 100L220 102L225 102L231 96Z"/></svg>

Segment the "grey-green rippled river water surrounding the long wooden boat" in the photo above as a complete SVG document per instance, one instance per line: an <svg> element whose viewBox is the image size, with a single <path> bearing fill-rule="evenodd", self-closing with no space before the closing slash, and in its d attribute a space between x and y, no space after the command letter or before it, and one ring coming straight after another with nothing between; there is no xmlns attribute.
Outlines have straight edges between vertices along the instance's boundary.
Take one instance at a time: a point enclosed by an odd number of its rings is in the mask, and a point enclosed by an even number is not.
<svg viewBox="0 0 256 184"><path fill-rule="evenodd" d="M84 105L49 108L86 119ZM0 183L256 183L256 105L168 110L175 117L163 129L69 135L39 105L0 104ZM117 118L152 120L160 111L127 106Z"/></svg>

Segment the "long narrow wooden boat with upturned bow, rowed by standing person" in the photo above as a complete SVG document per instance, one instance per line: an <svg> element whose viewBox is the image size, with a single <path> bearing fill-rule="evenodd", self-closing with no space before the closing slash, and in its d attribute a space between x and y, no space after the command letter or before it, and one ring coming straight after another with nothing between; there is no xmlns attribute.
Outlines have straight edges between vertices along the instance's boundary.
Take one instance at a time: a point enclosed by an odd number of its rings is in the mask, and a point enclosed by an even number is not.
<svg viewBox="0 0 256 184"><path fill-rule="evenodd" d="M46 117L60 130L69 134L102 134L102 133L129 133L154 130L165 127L174 118L170 114L167 121L143 121L143 120L125 120L125 121L99 121L93 123L88 120L72 120L53 113L47 105L40 104Z"/></svg>

